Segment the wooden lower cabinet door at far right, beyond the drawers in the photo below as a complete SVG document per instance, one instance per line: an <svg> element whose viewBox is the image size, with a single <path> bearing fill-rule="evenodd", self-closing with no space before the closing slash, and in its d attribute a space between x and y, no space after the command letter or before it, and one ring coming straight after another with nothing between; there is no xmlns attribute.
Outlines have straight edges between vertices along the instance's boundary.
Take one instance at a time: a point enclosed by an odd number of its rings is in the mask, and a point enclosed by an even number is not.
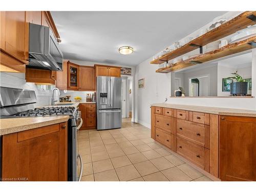
<svg viewBox="0 0 256 192"><path fill-rule="evenodd" d="M221 116L220 179L256 181L256 118Z"/></svg>

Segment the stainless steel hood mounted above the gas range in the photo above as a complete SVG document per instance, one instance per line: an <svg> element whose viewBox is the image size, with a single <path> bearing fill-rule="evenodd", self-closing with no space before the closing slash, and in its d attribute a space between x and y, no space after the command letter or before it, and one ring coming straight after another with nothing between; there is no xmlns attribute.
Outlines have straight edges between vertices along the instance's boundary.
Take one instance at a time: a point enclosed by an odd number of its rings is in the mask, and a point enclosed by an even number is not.
<svg viewBox="0 0 256 192"><path fill-rule="evenodd" d="M29 68L62 71L63 54L49 27L29 24Z"/></svg>

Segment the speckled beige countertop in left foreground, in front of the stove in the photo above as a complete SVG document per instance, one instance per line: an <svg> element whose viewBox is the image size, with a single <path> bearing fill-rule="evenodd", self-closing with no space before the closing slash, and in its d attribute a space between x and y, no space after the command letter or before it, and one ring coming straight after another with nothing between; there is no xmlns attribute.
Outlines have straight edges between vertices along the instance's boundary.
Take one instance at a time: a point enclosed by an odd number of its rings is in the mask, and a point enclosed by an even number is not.
<svg viewBox="0 0 256 192"><path fill-rule="evenodd" d="M41 126L66 122L68 120L69 115L0 119L0 135L31 130Z"/></svg>

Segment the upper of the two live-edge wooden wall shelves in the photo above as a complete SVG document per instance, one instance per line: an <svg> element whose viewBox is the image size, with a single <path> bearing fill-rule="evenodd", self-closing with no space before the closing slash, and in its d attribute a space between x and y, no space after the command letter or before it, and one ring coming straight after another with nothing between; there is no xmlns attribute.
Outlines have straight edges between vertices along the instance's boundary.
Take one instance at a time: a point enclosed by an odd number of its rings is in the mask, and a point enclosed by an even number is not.
<svg viewBox="0 0 256 192"><path fill-rule="evenodd" d="M174 59L181 55L184 55L190 51L198 49L200 46L203 47L212 41L216 41L228 35L231 35L241 29L246 28L249 25L255 25L256 11L245 11L240 15L232 18L223 25L208 31L207 33L191 40L184 46L169 52L156 60L151 61L151 64L161 64L170 59ZM250 19L251 18L251 19ZM194 45L194 46L192 46ZM196 45L196 47L195 47ZM198 46L198 47L197 47Z"/></svg>

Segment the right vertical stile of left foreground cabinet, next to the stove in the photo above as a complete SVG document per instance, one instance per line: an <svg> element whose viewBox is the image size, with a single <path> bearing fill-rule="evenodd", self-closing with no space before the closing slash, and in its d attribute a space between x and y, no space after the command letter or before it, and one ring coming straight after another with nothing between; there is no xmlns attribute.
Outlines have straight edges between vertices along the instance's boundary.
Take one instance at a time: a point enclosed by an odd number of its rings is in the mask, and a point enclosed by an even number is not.
<svg viewBox="0 0 256 192"><path fill-rule="evenodd" d="M59 181L68 181L68 122L56 125L59 129Z"/></svg>

